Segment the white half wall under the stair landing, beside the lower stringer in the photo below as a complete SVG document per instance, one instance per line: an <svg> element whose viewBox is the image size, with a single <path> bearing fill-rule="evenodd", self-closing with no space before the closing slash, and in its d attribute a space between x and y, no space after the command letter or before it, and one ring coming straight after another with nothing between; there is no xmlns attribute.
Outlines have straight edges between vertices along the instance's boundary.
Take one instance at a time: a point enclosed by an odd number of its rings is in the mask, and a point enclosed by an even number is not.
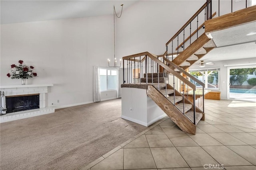
<svg viewBox="0 0 256 170"><path fill-rule="evenodd" d="M148 127L166 114L147 96L146 89L122 88L121 118Z"/></svg>

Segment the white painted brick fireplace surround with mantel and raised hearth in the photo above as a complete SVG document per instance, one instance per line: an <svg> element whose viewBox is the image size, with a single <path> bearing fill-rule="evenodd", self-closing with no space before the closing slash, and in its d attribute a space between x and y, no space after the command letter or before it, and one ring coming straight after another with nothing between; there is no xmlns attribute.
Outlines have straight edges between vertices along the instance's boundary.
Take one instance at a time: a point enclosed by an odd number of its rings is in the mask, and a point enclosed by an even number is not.
<svg viewBox="0 0 256 170"><path fill-rule="evenodd" d="M46 107L48 93L48 87L53 84L30 84L30 85L6 85L0 86L0 90L4 92L4 98L2 98L2 106L5 104L5 96L17 96L26 94L39 94L39 109L17 111L14 113L7 113L0 115L0 123L7 121L14 121L18 119L24 119L28 117L34 117L38 115L44 115L48 113L54 113L54 107ZM6 108L6 106L4 106Z"/></svg>

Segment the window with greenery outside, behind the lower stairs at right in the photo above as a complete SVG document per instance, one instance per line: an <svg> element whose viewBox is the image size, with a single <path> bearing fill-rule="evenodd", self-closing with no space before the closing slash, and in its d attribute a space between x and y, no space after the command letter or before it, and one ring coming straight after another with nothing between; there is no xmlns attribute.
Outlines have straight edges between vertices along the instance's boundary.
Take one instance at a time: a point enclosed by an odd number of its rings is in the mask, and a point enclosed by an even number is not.
<svg viewBox="0 0 256 170"><path fill-rule="evenodd" d="M196 77L201 82L205 83L205 88L210 89L219 89L219 72L220 68L211 68L211 69L199 69L199 70L190 70L189 73ZM192 79L191 82L194 83ZM207 82L207 83L206 83ZM196 86L200 87L199 84Z"/></svg>

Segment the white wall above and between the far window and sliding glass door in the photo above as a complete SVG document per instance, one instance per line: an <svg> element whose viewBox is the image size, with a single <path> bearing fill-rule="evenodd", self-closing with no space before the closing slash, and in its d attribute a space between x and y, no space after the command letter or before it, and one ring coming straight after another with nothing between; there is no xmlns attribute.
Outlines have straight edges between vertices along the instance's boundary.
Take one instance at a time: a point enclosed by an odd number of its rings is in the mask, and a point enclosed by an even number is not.
<svg viewBox="0 0 256 170"><path fill-rule="evenodd" d="M237 59L237 60L224 60L224 61L214 61L214 65L206 65L204 69L207 68L220 68L220 92L221 92L221 99L226 100L227 99L227 82L228 80L228 67L224 65L243 65L243 64L252 64L256 63L255 58L249 58L249 59ZM190 69L198 68L198 65L191 66Z"/></svg>

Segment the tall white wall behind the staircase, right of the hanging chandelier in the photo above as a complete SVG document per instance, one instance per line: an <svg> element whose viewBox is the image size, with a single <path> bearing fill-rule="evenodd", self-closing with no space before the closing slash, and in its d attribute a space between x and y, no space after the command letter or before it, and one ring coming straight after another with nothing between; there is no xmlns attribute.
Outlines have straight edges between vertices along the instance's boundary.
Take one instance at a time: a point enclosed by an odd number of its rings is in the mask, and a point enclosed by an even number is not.
<svg viewBox="0 0 256 170"><path fill-rule="evenodd" d="M116 20L116 56L148 51L162 55L167 41L205 0L139 1ZM185 8L184 8L185 7Z"/></svg>

